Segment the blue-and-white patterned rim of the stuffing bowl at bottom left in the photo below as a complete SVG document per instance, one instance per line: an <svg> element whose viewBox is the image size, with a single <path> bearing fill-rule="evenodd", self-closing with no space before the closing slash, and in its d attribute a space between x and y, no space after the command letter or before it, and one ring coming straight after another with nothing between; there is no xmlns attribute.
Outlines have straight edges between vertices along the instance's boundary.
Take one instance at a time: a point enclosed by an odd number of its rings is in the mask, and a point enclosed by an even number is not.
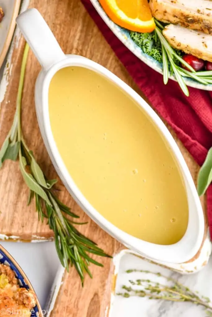
<svg viewBox="0 0 212 317"><path fill-rule="evenodd" d="M31 291L34 291L33 287L31 286L30 281L28 280L27 276L20 268L18 263L13 259L13 257L0 245L0 263L10 266L10 268L15 272L15 275L18 279L18 284L20 287L24 287ZM37 303L36 306L31 311L31 317L44 317L40 304L38 302L38 298L36 296Z"/></svg>

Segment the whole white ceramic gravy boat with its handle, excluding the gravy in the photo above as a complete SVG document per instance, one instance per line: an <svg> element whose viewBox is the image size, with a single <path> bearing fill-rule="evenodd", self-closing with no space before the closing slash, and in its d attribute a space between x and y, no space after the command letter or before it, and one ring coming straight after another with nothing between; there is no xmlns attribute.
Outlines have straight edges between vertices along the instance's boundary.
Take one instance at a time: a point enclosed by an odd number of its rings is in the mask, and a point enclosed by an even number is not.
<svg viewBox="0 0 212 317"><path fill-rule="evenodd" d="M38 123L51 161L72 197L101 228L129 249L133 249L142 256L156 261L172 263L182 263L190 260L200 249L203 240L204 216L202 206L183 156L161 119L132 88L109 70L87 58L76 55L65 55L38 10L29 9L22 13L17 17L17 25L21 29L26 41L31 46L31 49L42 66L35 87L35 105ZM123 232L95 210L79 191L58 152L51 132L48 109L48 90L50 81L60 68L67 66L89 68L115 83L135 100L138 105L140 105L146 115L158 127L161 134L167 140L170 150L173 152L175 159L180 166L188 197L188 228L179 242L172 245L158 245L140 240Z"/></svg>

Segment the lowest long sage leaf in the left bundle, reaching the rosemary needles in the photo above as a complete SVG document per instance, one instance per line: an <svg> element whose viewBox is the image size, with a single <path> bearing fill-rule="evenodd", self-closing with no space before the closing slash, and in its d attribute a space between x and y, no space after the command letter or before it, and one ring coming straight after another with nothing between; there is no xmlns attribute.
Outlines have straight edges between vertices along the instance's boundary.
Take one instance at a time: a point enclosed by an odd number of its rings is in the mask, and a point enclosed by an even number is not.
<svg viewBox="0 0 212 317"><path fill-rule="evenodd" d="M24 181L27 184L27 186L29 187L29 189L31 191L34 191L35 193L37 193L41 198L43 198L49 205L51 205L51 202L47 196L47 194L45 193L44 189L37 183L37 181L35 180L35 178L27 173L27 171L25 170L24 167L24 163L25 163L26 159L23 159L23 156L20 158L20 170L21 173L23 175Z"/></svg>

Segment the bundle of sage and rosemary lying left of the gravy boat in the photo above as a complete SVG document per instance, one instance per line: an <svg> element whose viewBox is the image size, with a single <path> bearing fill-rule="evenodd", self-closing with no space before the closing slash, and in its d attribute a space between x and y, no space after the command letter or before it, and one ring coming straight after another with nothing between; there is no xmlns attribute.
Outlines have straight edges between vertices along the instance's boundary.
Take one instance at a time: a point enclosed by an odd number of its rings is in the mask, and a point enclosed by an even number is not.
<svg viewBox="0 0 212 317"><path fill-rule="evenodd" d="M72 221L70 217L79 218L79 216L74 214L69 207L64 205L57 198L53 187L57 180L48 180L44 176L33 152L30 151L26 145L21 127L21 100L28 52L29 46L26 44L21 65L16 113L10 132L0 149L0 167L6 159L14 161L19 159L20 171L25 183L30 189L28 204L30 204L32 198L35 197L39 220L43 222L44 218L46 218L50 229L54 231L55 247L60 262L67 271L69 270L69 264L73 265L83 285L85 272L92 277L89 270L90 263L103 266L101 263L92 259L89 253L103 257L111 256L107 255L95 242L82 235L73 226L76 222Z"/></svg>

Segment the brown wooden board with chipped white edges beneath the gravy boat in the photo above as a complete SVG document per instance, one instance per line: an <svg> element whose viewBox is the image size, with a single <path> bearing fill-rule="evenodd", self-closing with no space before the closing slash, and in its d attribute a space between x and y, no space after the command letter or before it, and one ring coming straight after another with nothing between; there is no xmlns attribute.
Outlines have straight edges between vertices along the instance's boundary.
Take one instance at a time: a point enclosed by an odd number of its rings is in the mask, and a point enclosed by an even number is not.
<svg viewBox="0 0 212 317"><path fill-rule="evenodd" d="M36 7L41 12L66 54L78 54L98 62L142 95L79 0L51 0L51 2L31 0L30 7ZM23 48L24 40L21 39L13 52L10 83L1 107L0 145L10 128L15 112ZM41 139L35 114L34 86L39 71L38 61L30 52L23 93L23 131L28 146L34 151L36 159L47 177L56 178L56 172ZM170 131L176 139L174 132L171 129ZM198 166L181 142L177 140L177 143L196 180ZM60 199L71 206L72 210L81 216L82 221L88 221L87 225L80 227L81 232L110 254L123 248L120 243L108 236L85 215L60 181L58 188L61 190ZM27 207L27 197L28 189L20 175L18 163L6 162L0 170L0 233L9 236L15 235L24 241L35 239L35 237L51 238L52 232L48 226L38 222L34 204ZM93 279L90 280L86 276L83 289L74 269L71 269L69 274L65 273L64 283L60 288L51 317L105 316L111 293L113 265L109 259L101 260L104 269L91 266Z"/></svg>

